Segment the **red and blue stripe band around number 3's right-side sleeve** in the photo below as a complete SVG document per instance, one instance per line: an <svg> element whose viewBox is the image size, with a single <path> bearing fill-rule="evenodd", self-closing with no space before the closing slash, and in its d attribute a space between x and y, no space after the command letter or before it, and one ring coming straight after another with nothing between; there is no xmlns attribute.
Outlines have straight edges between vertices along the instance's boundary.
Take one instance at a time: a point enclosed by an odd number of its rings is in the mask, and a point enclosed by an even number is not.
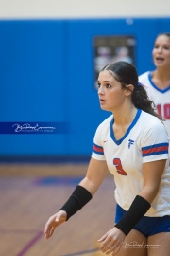
<svg viewBox="0 0 170 256"><path fill-rule="evenodd" d="M150 155L168 154L168 143L160 143L142 148L143 157Z"/></svg>

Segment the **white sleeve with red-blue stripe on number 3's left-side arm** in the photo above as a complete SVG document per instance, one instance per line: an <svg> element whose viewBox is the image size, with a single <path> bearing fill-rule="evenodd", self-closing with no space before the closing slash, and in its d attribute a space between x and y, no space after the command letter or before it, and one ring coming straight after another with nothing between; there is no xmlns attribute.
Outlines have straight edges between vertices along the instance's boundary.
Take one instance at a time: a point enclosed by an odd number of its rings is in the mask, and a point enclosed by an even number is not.
<svg viewBox="0 0 170 256"><path fill-rule="evenodd" d="M102 145L101 125L98 126L95 136L93 138L93 153L92 158L96 160L106 160L104 155L104 149Z"/></svg>

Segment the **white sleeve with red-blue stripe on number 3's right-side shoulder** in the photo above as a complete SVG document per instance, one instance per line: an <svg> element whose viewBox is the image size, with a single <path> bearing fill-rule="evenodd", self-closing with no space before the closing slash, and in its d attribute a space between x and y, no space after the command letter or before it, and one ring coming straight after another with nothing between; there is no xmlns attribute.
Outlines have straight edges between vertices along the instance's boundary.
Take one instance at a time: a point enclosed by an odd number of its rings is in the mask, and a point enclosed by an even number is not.
<svg viewBox="0 0 170 256"><path fill-rule="evenodd" d="M145 129L141 142L143 163L168 159L168 137L161 121Z"/></svg>

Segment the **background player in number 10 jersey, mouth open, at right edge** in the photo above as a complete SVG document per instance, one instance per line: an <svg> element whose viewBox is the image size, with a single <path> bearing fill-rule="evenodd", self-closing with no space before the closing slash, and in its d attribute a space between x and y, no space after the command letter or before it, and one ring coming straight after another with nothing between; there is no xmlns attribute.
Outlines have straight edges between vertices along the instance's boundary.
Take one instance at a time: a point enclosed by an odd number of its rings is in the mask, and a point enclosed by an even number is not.
<svg viewBox="0 0 170 256"><path fill-rule="evenodd" d="M139 81L146 85L149 98L166 119L164 124L170 137L170 33L157 36L152 55L156 69L142 74Z"/></svg>

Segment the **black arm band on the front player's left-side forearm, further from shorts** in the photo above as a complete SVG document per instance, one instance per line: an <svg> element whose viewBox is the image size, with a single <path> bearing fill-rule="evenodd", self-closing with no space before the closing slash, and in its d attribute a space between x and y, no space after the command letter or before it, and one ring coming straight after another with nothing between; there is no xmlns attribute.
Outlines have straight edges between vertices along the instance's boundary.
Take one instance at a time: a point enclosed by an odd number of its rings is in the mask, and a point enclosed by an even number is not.
<svg viewBox="0 0 170 256"><path fill-rule="evenodd" d="M76 211L80 210L92 199L92 194L84 187L77 185L75 191L72 193L68 201L59 210L65 210L68 220Z"/></svg>

